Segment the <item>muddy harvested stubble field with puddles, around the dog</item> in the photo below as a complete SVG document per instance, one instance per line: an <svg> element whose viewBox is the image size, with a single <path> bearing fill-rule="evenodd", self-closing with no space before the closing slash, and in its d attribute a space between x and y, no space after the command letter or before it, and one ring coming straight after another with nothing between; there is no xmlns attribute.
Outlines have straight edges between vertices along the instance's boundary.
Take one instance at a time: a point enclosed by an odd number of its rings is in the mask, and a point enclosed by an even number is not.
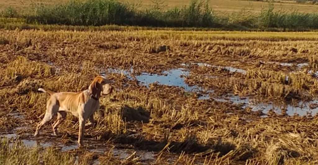
<svg viewBox="0 0 318 165"><path fill-rule="evenodd" d="M1 30L0 164L317 164L317 44L312 32ZM97 74L116 91L85 148L72 115L32 137L39 87L76 92Z"/></svg>

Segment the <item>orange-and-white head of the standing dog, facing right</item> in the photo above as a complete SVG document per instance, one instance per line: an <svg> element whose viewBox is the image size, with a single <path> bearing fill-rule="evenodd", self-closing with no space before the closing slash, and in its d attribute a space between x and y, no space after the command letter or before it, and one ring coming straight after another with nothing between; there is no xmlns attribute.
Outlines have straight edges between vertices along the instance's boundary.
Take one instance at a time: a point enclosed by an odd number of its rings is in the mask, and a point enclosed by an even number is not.
<svg viewBox="0 0 318 165"><path fill-rule="evenodd" d="M107 95L113 92L113 86L110 85L110 83L111 81L106 79L105 77L96 76L91 85L89 86L89 90L91 91L91 93L93 93L93 95Z"/></svg>

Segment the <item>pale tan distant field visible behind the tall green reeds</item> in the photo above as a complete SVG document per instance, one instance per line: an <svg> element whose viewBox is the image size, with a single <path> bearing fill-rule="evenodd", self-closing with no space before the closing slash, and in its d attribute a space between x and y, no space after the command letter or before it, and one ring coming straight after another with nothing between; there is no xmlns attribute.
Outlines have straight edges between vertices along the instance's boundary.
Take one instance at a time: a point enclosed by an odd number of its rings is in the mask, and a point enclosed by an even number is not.
<svg viewBox="0 0 318 165"><path fill-rule="evenodd" d="M32 2L42 2L47 4L54 4L57 2L63 2L65 0L0 0L0 9L3 9L8 6L16 7L17 9L26 9L28 6L32 4ZM127 0L121 0L122 2L128 2ZM137 3L137 0L130 0L129 3ZM154 0L143 0L142 1L142 7L152 7L154 6ZM190 0L167 0L162 1L163 4L166 5L166 7L174 7L174 6L182 6L189 4ZM297 9L300 12L317 12L318 11L318 5L308 5L308 4L298 4L293 3L293 1L277 1L274 3L276 5L276 9L280 9L282 7L285 10L294 10ZM266 2L255 2L255 1L236 1L236 0L213 0L210 1L210 6L213 10L216 11L240 11L243 8L246 8L248 10L252 11L259 11L262 7L265 7L267 5Z"/></svg>

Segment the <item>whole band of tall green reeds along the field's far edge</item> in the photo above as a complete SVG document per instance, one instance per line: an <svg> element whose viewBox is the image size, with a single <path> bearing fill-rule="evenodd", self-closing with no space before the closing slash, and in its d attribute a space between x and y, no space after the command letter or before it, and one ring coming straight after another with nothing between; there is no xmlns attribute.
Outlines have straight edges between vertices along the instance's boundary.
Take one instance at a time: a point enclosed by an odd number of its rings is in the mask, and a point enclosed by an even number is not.
<svg viewBox="0 0 318 165"><path fill-rule="evenodd" d="M318 29L318 13L301 13L297 10L274 10L273 3L259 13L249 11L216 14L209 0L191 0L187 6L165 10L158 3L151 9L116 0L70 0L53 6L36 4L25 14L28 23L100 26L106 24L155 27L209 27L256 29ZM12 12L11 12L12 11ZM6 17L14 16L6 10Z"/></svg>

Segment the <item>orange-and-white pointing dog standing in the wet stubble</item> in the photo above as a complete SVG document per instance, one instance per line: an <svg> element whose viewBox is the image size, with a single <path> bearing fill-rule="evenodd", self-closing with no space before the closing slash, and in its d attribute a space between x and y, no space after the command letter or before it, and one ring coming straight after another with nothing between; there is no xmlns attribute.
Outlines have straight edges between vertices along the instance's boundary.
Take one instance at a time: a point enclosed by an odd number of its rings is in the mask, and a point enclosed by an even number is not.
<svg viewBox="0 0 318 165"><path fill-rule="evenodd" d="M85 122L88 119L94 124L94 112L99 109L100 95L112 93L113 87L110 81L103 76L94 78L89 88L82 92L53 92L39 88L42 91L50 94L50 99L46 102L46 112L43 120L38 123L37 130L34 136L37 136L41 127L52 119L55 114L58 114L56 121L52 125L53 134L56 135L56 129L59 124L66 118L67 113L72 113L79 118L79 146L83 146L83 137Z"/></svg>

